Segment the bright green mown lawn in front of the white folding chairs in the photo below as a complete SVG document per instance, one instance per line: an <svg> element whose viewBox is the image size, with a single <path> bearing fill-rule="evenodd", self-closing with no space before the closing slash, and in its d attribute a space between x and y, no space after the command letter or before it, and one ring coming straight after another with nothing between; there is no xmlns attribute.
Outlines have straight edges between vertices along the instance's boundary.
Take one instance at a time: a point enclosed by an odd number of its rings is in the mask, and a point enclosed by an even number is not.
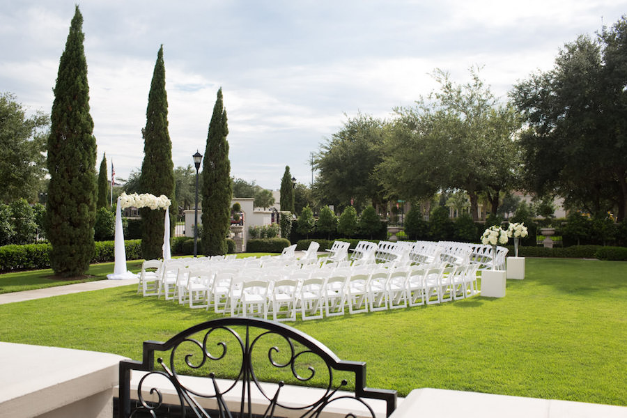
<svg viewBox="0 0 627 418"><path fill-rule="evenodd" d="M0 305L0 339L141 359L142 341L216 317L136 290ZM625 262L527 258L525 280L508 281L502 299L288 325L341 359L365 361L369 387L400 396L436 387L627 405Z"/></svg>

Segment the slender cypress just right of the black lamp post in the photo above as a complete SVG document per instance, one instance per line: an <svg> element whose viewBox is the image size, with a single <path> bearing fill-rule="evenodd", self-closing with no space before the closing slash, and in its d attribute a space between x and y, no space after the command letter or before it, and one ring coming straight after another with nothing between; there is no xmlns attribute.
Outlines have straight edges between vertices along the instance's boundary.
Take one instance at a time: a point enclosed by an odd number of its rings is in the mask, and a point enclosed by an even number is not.
<svg viewBox="0 0 627 418"><path fill-rule="evenodd" d="M207 256L226 254L226 234L231 226L231 162L226 135L226 110L222 102L222 88L217 92L209 123L207 146L203 159L203 252Z"/></svg>

